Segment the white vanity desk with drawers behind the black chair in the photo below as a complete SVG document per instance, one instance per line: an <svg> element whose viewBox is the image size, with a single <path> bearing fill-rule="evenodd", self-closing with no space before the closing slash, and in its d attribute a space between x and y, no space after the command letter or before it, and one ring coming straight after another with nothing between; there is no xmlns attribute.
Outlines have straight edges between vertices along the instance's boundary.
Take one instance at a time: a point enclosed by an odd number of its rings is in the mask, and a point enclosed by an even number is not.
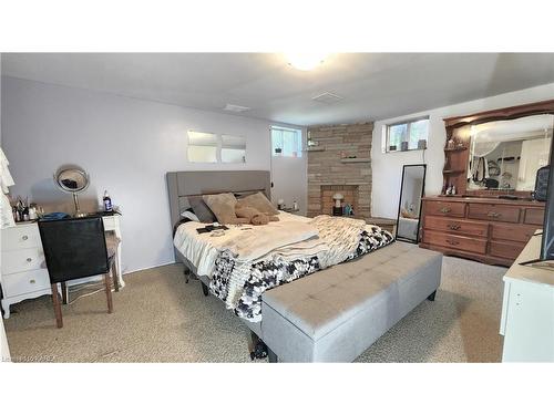
<svg viewBox="0 0 554 415"><path fill-rule="evenodd" d="M104 216L104 230L114 231L121 241L120 216ZM27 299L51 294L50 278L48 276L44 252L37 222L18 224L2 229L2 308L4 318L10 317L10 305ZM121 272L121 242L117 246L115 269L120 287L124 287ZM98 279L92 277L91 279ZM86 281L69 281L74 284Z"/></svg>

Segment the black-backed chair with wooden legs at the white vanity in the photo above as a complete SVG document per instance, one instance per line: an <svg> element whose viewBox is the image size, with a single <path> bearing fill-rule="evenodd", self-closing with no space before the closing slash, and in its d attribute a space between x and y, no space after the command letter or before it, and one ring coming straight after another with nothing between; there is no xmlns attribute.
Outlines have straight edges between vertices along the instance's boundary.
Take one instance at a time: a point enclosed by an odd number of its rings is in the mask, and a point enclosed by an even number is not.
<svg viewBox="0 0 554 415"><path fill-rule="evenodd" d="M119 291L117 274L115 272L115 250L106 248L104 222L102 218L84 217L61 220L40 220L40 237L44 249L48 273L52 287L52 302L54 303L55 322L58 328L63 326L62 309L58 294L58 283L62 284L65 301L65 281L80 278L104 274L107 312L113 311L112 287Z"/></svg>

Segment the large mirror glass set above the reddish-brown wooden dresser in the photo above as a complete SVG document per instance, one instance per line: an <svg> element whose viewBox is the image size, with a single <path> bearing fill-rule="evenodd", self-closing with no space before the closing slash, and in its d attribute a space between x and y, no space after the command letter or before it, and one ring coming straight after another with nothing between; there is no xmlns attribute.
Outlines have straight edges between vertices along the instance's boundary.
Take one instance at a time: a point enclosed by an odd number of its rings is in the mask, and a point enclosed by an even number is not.
<svg viewBox="0 0 554 415"><path fill-rule="evenodd" d="M533 191L536 172L548 165L554 115L471 125L468 190Z"/></svg>

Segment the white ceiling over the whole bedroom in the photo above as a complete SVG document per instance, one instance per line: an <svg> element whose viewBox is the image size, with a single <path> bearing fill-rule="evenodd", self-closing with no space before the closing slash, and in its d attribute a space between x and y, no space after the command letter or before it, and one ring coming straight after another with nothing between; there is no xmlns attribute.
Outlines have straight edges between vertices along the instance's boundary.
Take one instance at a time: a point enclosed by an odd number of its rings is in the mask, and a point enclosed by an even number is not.
<svg viewBox="0 0 554 415"><path fill-rule="evenodd" d="M3 53L2 75L297 125L383 120L554 82L554 53ZM311 98L324 92L335 103Z"/></svg>

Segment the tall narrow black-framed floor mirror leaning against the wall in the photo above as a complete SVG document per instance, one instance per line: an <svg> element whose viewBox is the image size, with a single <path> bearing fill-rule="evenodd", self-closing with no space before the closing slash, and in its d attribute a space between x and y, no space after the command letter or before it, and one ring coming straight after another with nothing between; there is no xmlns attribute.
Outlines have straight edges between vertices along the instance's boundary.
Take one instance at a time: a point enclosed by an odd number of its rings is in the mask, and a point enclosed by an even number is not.
<svg viewBox="0 0 554 415"><path fill-rule="evenodd" d="M402 184L398 204L397 239L418 243L421 219L421 198L425 191L425 164L402 167Z"/></svg>

